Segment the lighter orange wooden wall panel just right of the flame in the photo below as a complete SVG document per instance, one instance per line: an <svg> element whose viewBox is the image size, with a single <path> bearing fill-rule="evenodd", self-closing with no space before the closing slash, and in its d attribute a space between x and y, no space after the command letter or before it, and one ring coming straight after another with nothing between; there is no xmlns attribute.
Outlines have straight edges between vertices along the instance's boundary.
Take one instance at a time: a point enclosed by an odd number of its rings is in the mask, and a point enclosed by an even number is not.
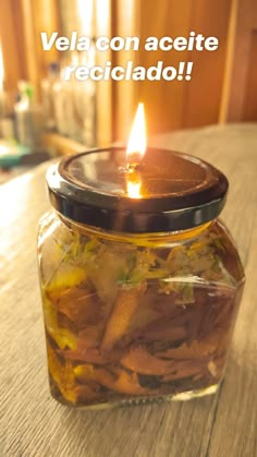
<svg viewBox="0 0 257 457"><path fill-rule="evenodd" d="M139 31L144 40L147 36L187 36L194 0L140 0ZM158 60L164 65L176 67L185 61L186 51L144 51L139 64L150 67ZM139 99L145 103L150 134L180 129L183 123L184 86L186 82L164 80L138 84Z"/></svg>

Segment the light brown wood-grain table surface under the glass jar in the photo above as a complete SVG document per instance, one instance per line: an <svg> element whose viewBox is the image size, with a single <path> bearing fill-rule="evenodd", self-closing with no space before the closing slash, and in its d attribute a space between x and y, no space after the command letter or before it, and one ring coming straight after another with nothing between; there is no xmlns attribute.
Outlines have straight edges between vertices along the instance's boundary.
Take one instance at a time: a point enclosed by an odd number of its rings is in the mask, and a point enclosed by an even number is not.
<svg viewBox="0 0 257 457"><path fill-rule="evenodd" d="M257 124L167 134L155 144L205 158L230 180L223 219L246 270L225 380L216 396L106 411L48 390L36 233L46 165L0 188L0 456L254 457L257 454Z"/></svg>

